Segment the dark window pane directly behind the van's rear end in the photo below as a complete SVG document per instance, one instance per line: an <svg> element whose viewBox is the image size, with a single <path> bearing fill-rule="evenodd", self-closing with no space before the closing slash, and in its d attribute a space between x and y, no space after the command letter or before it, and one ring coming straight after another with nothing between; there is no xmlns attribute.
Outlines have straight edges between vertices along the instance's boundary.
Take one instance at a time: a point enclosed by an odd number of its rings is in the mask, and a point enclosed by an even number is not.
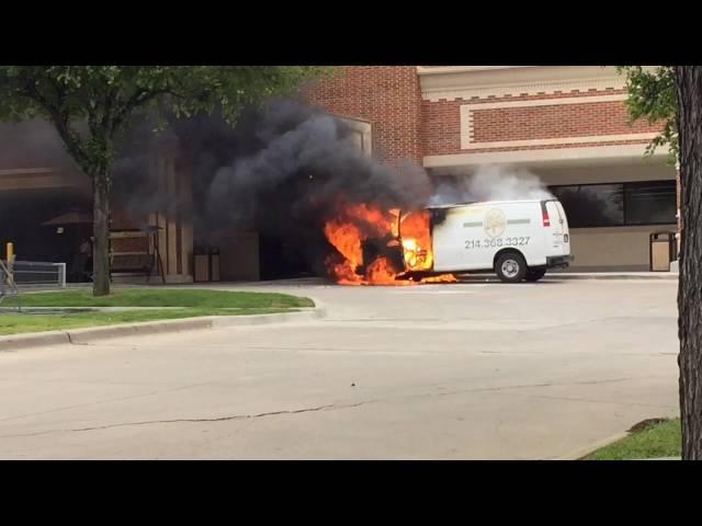
<svg viewBox="0 0 702 526"><path fill-rule="evenodd" d="M622 184L582 184L551 188L561 201L573 228L624 225Z"/></svg>

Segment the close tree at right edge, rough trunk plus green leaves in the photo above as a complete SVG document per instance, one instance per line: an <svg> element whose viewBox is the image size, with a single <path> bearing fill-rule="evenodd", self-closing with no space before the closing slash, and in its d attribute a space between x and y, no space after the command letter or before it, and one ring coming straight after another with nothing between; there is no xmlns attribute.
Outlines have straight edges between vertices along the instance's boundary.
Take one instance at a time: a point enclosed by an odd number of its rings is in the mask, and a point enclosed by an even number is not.
<svg viewBox="0 0 702 526"><path fill-rule="evenodd" d="M622 68L630 89L632 118L666 122L649 147L670 145L679 167L684 233L680 243L678 335L680 338L680 420L682 458L702 459L702 67L667 66L655 72Z"/></svg>

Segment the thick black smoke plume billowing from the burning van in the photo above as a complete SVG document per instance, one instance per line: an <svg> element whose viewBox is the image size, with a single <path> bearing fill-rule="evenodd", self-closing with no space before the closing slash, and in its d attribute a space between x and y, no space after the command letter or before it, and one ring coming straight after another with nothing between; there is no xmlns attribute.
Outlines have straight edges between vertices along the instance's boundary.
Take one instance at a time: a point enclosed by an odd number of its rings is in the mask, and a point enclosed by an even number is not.
<svg viewBox="0 0 702 526"><path fill-rule="evenodd" d="M346 204L416 209L432 191L417 164L380 162L359 148L347 122L292 100L246 111L234 128L217 116L172 121L159 134L154 128L152 121L141 123L122 146L114 176L118 201L137 213L191 215L196 241L205 244L222 242L233 229L257 231L321 263L332 252L324 225ZM156 151L190 162L194 208L159 194L144 178Z"/></svg>

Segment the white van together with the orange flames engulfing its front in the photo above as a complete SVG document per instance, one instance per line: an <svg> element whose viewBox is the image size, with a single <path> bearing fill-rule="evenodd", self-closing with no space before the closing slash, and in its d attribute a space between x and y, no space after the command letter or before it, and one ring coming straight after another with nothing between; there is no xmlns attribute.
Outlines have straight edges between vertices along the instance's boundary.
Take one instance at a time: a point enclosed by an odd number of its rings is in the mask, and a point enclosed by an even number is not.
<svg viewBox="0 0 702 526"><path fill-rule="evenodd" d="M486 271L506 283L535 282L571 260L568 221L555 199L407 213L351 205L325 235L336 249L327 268L342 285L455 282L455 274Z"/></svg>

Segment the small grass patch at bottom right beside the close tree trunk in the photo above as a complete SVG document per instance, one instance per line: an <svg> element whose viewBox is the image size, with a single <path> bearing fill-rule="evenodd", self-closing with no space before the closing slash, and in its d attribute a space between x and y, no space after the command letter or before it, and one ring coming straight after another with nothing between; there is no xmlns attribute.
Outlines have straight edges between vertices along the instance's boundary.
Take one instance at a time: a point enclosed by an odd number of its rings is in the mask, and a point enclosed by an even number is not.
<svg viewBox="0 0 702 526"><path fill-rule="evenodd" d="M656 419L634 426L630 436L591 453L585 460L679 457L681 444L680 419Z"/></svg>

